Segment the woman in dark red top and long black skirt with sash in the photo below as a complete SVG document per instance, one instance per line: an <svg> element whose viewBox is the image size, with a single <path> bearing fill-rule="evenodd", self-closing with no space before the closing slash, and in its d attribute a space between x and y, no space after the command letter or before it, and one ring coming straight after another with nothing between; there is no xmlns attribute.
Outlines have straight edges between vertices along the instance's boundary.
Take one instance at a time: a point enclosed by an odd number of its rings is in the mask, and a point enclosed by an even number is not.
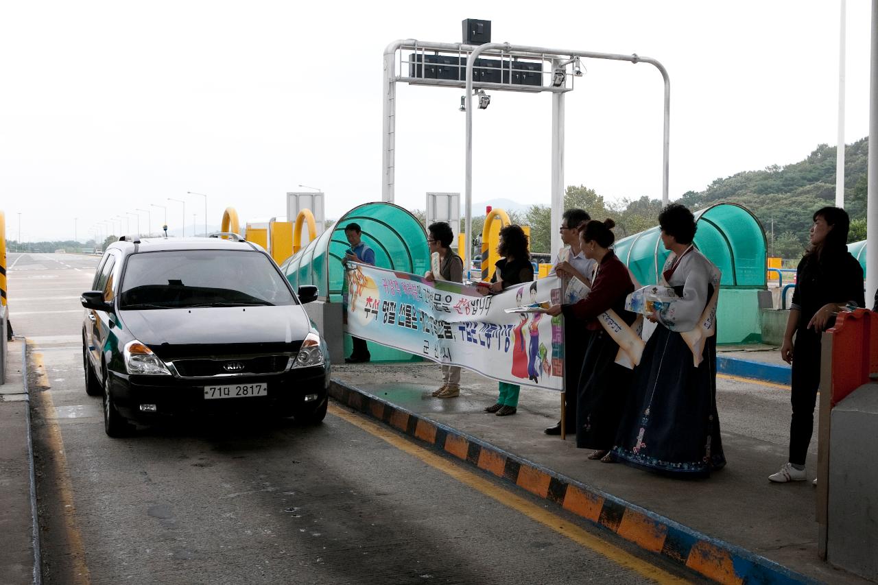
<svg viewBox="0 0 878 585"><path fill-rule="evenodd" d="M615 363L619 344L601 327L597 317L613 309L628 325L637 318L625 310L625 297L634 291L634 284L628 268L609 249L615 241L610 231L612 227L615 227L613 220L591 220L579 227L582 251L598 263L592 290L583 300L572 305L555 305L547 311L551 315L564 313L565 319L576 320L581 329L567 327L565 330L579 330L581 335L587 336L576 399L576 446L594 449L588 459L607 462L612 461L608 453L622 419L631 371Z"/></svg>

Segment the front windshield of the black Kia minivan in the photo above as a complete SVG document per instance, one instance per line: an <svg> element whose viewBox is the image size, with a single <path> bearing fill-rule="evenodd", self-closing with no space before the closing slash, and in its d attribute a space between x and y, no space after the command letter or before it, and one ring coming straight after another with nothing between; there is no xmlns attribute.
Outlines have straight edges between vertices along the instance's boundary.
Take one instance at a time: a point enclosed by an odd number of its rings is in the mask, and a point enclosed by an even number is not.
<svg viewBox="0 0 878 585"><path fill-rule="evenodd" d="M294 305L267 256L246 250L174 250L128 257L119 308Z"/></svg>

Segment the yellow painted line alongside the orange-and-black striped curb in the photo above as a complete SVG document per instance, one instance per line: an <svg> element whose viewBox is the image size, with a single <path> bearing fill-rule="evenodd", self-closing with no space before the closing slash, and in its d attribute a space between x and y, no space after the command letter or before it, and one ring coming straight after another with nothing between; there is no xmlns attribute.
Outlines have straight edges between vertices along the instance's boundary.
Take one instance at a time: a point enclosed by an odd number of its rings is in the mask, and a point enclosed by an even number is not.
<svg viewBox="0 0 878 585"><path fill-rule="evenodd" d="M421 459L421 461L428 466L434 467L435 469L450 475L466 486L481 492L508 508L515 509L515 511L524 516L528 516L531 520L551 528L553 531L558 532L566 538L570 538L578 545L585 546L596 553L601 553L603 556L621 567L628 568L637 574L643 575L647 579L659 583L688 582L686 579L670 574L664 569L651 565L645 560L638 559L633 554L628 553L615 545L609 544L605 540L588 533L575 524L568 524L563 518L552 514L548 510L545 510L532 502L528 502L520 495L515 495L503 488L498 488L493 483L480 477L476 473L467 471L461 466L451 463L448 459L444 459L434 452L411 443L403 437L399 437L399 435L392 430L387 430L385 427L380 426L377 423L372 423L359 415L349 413L347 410L339 408L332 403L329 404L329 413L338 416L342 420L353 424L375 437L383 439L400 451L406 451L409 455Z"/></svg>

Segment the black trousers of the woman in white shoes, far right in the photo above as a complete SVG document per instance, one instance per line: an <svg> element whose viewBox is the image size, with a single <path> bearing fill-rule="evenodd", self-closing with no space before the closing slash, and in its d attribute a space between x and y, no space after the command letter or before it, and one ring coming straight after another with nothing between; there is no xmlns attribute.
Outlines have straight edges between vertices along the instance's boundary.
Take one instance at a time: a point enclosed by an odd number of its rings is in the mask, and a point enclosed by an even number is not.
<svg viewBox="0 0 878 585"><path fill-rule="evenodd" d="M820 335L799 329L793 346L793 383L789 400L793 418L789 423L789 462L805 465L814 434L814 407L820 386Z"/></svg>

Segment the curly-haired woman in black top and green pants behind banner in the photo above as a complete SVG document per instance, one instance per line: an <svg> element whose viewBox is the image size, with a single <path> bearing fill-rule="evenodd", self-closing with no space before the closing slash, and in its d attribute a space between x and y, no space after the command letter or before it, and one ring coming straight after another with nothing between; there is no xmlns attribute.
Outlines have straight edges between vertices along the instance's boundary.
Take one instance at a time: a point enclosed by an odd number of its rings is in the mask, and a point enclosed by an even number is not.
<svg viewBox="0 0 878 585"><path fill-rule="evenodd" d="M510 286L521 285L534 279L534 267L530 264L528 252L528 236L521 227L512 225L500 230L500 243L497 245L500 260L494 264L490 290L500 293ZM485 412L498 416L515 415L518 408L518 393L521 386L500 382L500 396L493 406L485 408Z"/></svg>

